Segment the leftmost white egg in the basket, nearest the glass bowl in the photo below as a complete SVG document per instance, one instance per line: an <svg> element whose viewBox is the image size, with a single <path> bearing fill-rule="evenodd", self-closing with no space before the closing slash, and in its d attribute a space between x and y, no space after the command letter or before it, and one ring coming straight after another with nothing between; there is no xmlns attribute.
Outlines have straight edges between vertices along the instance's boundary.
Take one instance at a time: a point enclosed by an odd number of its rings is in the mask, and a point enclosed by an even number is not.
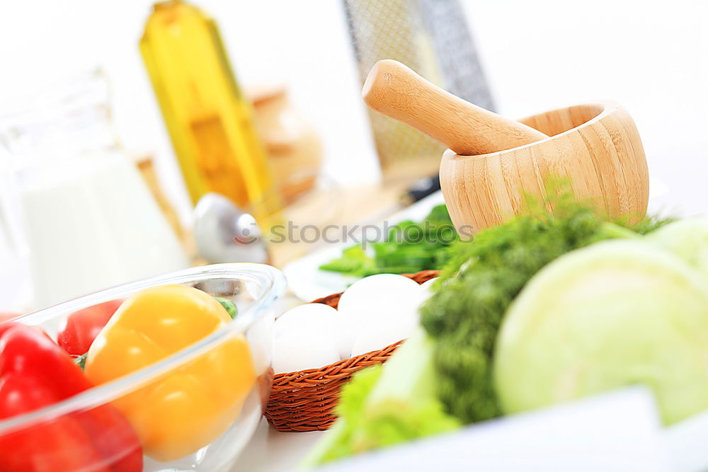
<svg viewBox="0 0 708 472"><path fill-rule="evenodd" d="M296 328L275 339L273 372L319 369L339 360L334 340L309 330Z"/></svg>

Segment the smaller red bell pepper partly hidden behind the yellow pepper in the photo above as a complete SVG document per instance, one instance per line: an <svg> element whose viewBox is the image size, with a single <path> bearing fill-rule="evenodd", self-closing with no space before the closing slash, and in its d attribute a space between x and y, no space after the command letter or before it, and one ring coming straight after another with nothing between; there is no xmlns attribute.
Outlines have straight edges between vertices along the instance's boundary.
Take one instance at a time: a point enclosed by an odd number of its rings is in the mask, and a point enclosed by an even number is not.
<svg viewBox="0 0 708 472"><path fill-rule="evenodd" d="M91 343L108 323L122 300L104 301L69 315L67 326L57 335L57 344L69 354L80 356L89 352Z"/></svg>

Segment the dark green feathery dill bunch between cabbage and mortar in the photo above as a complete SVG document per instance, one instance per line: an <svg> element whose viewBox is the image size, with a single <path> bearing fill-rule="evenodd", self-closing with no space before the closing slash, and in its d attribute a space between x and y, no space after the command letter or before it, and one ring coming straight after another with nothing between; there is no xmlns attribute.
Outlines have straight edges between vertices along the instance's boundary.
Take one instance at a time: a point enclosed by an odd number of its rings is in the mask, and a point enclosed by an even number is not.
<svg viewBox="0 0 708 472"><path fill-rule="evenodd" d="M421 308L423 327L435 340L438 397L463 422L501 415L491 356L504 313L528 280L573 249L637 235L622 221L612 224L590 205L574 202L559 184L547 185L547 194L552 197L543 201L528 198L526 214L452 246L435 294ZM664 222L635 227L644 233Z"/></svg>

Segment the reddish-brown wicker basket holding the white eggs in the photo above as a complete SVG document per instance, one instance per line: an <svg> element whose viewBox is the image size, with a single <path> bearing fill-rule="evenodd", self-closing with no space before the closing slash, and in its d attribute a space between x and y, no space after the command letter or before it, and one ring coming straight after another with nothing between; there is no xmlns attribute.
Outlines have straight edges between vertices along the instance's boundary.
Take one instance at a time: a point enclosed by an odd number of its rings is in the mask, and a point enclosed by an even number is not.
<svg viewBox="0 0 708 472"><path fill-rule="evenodd" d="M423 270L406 274L419 284L438 277L438 270ZM341 294L315 300L333 308L337 307ZM320 431L328 429L336 416L333 408L339 399L339 391L354 372L371 365L385 362L403 341L383 349L342 359L319 369L287 372L273 376L273 387L265 408L265 418L278 431Z"/></svg>

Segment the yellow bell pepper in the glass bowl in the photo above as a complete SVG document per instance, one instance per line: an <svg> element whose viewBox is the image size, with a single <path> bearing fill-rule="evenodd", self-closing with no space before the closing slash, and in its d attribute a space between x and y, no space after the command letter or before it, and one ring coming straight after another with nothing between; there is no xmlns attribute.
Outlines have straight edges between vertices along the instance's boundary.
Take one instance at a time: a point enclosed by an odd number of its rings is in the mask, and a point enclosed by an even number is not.
<svg viewBox="0 0 708 472"><path fill-rule="evenodd" d="M229 321L224 307L198 289L142 290L122 303L93 341L86 376L103 384L164 359ZM249 344L237 335L114 405L131 422L147 456L171 461L227 430L255 382Z"/></svg>

